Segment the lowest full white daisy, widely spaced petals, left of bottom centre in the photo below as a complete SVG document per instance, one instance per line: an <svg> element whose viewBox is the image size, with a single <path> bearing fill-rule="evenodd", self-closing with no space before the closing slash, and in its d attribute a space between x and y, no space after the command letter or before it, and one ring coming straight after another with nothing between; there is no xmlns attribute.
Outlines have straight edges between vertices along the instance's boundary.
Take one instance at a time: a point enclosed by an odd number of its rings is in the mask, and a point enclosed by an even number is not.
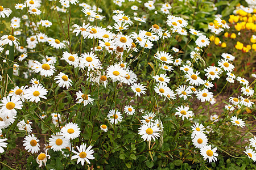
<svg viewBox="0 0 256 170"><path fill-rule="evenodd" d="M79 164L80 162L82 165L84 165L85 162L90 164L89 159L94 159L94 156L93 156L94 151L91 150L92 146L89 146L86 149L86 144L83 143L82 145L80 145L80 147L76 146L76 148L79 152L72 151L76 155L71 156L71 160L77 159L77 164Z"/></svg>

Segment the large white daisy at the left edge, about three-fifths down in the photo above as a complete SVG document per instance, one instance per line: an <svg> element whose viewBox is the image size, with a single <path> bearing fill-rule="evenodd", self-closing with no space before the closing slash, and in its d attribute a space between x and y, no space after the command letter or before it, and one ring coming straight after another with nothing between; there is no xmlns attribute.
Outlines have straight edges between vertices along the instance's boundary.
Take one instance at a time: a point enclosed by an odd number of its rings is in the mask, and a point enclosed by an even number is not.
<svg viewBox="0 0 256 170"><path fill-rule="evenodd" d="M16 96L12 96L11 99L10 96L3 97L0 106L0 114L4 117L16 116L16 109L22 109L23 107L22 101L20 101L20 98Z"/></svg>

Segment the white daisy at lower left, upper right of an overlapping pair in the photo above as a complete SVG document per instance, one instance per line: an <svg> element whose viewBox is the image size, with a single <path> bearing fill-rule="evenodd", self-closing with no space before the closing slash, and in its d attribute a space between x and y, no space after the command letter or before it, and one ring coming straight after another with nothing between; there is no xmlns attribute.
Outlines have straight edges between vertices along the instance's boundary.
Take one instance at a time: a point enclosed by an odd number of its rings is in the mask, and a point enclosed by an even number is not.
<svg viewBox="0 0 256 170"><path fill-rule="evenodd" d="M80 136L80 128L77 124L70 122L60 130L67 139L75 139Z"/></svg>

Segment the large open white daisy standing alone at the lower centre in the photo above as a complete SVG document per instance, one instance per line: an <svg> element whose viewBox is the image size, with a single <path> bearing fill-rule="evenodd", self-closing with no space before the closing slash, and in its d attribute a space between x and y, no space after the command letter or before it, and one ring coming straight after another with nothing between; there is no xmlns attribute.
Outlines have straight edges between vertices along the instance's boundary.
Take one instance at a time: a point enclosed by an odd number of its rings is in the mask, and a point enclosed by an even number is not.
<svg viewBox="0 0 256 170"><path fill-rule="evenodd" d="M152 139L153 141L155 141L155 139L158 139L158 137L160 137L160 133L158 133L158 131L160 131L160 128L158 128L157 125L141 125L141 127L139 128L139 135L142 135L141 138L144 139L144 141L151 141Z"/></svg>

